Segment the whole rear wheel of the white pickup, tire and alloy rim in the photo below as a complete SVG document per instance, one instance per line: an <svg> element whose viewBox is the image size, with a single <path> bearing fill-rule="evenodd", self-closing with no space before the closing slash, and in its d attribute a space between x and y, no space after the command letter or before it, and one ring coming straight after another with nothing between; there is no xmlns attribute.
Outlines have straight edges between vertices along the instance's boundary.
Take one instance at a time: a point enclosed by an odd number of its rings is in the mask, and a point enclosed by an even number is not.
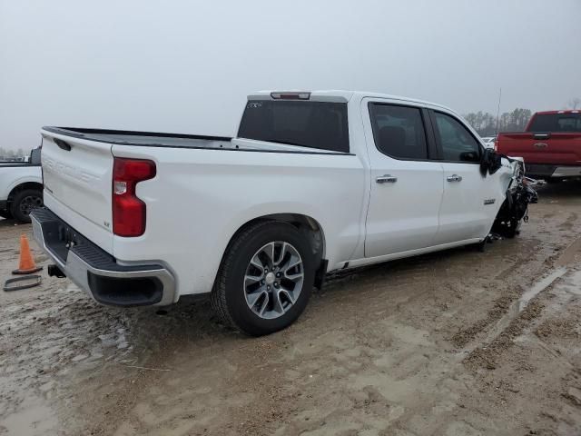
<svg viewBox="0 0 581 436"><path fill-rule="evenodd" d="M261 222L242 231L224 254L212 290L222 322L252 336L291 325L309 302L312 250L289 223Z"/></svg>

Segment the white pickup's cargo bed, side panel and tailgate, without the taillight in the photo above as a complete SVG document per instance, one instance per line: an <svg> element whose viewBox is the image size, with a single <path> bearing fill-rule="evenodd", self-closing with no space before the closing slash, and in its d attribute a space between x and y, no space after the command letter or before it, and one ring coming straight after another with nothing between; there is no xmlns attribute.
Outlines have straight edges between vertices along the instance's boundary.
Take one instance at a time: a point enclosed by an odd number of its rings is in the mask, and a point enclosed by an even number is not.
<svg viewBox="0 0 581 436"><path fill-rule="evenodd" d="M172 265L179 294L212 288L231 227L247 218L321 217L344 234L327 245L334 263L359 242L366 173L356 154L189 134L45 127L42 135L46 207L120 264ZM135 187L147 215L133 238L113 233L113 168L126 159L155 163L154 177ZM222 253L209 255L215 250Z"/></svg>

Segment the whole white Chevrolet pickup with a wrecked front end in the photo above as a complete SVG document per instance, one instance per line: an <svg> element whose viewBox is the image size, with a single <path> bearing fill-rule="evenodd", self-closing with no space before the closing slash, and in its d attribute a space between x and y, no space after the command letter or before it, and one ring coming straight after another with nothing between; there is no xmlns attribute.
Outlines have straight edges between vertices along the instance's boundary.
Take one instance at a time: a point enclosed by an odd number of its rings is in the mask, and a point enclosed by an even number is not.
<svg viewBox="0 0 581 436"><path fill-rule="evenodd" d="M458 114L383 94L261 92L237 137L44 127L34 237L94 300L212 292L280 330L327 272L514 234L536 193Z"/></svg>

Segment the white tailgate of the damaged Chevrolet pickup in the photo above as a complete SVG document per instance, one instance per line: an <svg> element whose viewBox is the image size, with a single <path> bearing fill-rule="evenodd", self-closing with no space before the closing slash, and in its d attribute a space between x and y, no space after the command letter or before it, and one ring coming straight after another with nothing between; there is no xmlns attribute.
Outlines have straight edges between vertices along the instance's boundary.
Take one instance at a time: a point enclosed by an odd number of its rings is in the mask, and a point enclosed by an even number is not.
<svg viewBox="0 0 581 436"><path fill-rule="evenodd" d="M111 144L43 134L44 204L113 254Z"/></svg>

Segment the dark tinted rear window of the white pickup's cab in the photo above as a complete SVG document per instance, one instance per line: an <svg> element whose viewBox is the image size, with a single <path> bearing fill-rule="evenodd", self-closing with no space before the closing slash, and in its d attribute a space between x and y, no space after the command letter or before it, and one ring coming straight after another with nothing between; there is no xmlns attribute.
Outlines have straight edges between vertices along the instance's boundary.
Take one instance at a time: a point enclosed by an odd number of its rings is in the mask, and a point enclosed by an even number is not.
<svg viewBox="0 0 581 436"><path fill-rule="evenodd" d="M238 137L349 153L347 104L251 100Z"/></svg>

